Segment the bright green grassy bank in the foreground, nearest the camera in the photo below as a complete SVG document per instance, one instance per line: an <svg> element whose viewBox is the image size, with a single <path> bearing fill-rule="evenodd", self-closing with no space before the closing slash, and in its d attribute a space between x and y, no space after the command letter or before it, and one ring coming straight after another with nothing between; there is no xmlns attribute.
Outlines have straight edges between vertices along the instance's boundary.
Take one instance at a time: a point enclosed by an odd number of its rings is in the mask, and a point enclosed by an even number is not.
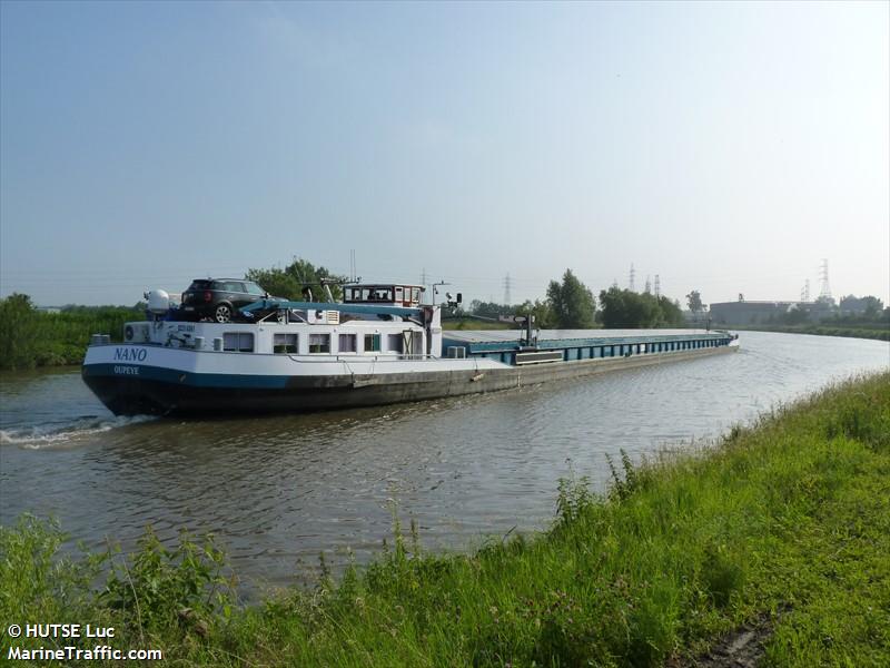
<svg viewBox="0 0 890 668"><path fill-rule="evenodd" d="M616 469L606 498L563 481L545 534L436 556L396 527L369 568L248 608L212 542L69 561L23 519L0 619L110 625L184 666L676 666L768 619L768 665L890 665L890 373Z"/></svg>

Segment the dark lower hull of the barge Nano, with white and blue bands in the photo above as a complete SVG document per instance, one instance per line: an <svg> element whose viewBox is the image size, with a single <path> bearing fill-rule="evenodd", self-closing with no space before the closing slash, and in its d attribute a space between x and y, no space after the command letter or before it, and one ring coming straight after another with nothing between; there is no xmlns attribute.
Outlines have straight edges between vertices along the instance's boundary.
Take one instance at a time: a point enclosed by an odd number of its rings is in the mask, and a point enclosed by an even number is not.
<svg viewBox="0 0 890 668"><path fill-rule="evenodd" d="M495 392L725 354L738 348L730 345L527 366L490 360L427 360L403 362L408 367L405 371L394 371L392 365L356 370L355 363L347 363L322 366L316 373L304 364L296 374L275 373L280 367L263 369L261 364L258 370L237 365L220 373L202 366L201 354L189 351L149 351L151 355L144 360L137 356L116 363L109 358L113 350L113 345L91 347L92 358L88 354L82 376L115 414L234 415L315 412ZM159 352L165 357L152 360L152 355L162 356Z"/></svg>

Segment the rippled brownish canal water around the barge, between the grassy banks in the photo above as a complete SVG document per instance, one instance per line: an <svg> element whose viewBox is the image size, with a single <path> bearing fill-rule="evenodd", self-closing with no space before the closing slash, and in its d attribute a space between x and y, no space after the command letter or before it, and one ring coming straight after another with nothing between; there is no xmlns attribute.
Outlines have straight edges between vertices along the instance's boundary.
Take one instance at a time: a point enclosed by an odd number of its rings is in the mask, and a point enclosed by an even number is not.
<svg viewBox="0 0 890 668"><path fill-rule="evenodd" d="M0 376L0 523L57 518L132 547L147 524L214 532L250 583L366 560L394 508L426 548L542 529L561 477L725 432L827 383L890 366L890 344L743 332L735 354L482 396L310 415L116 419L78 370Z"/></svg>

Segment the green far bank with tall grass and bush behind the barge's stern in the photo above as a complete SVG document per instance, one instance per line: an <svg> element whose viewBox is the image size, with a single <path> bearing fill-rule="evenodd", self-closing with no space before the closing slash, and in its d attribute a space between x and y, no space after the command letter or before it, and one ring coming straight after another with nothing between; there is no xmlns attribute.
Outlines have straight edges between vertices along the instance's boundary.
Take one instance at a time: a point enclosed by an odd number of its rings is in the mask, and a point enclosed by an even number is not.
<svg viewBox="0 0 890 668"><path fill-rule="evenodd" d="M43 313L27 295L10 295L0 299L0 369L79 364L91 334L110 334L120 341L123 324L142 317L140 308L123 306Z"/></svg>

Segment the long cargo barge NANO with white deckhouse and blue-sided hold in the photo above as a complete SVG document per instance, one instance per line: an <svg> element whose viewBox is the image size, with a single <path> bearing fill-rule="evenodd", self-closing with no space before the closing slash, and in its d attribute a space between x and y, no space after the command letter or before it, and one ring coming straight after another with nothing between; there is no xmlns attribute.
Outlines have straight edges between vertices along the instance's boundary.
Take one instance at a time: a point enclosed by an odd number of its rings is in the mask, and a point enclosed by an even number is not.
<svg viewBox="0 0 890 668"><path fill-rule="evenodd" d="M149 293L125 342L93 335L82 377L112 412L238 414L369 406L479 392L736 350L703 330L442 330L416 285L347 285L343 303L258 299L251 322L189 322Z"/></svg>

